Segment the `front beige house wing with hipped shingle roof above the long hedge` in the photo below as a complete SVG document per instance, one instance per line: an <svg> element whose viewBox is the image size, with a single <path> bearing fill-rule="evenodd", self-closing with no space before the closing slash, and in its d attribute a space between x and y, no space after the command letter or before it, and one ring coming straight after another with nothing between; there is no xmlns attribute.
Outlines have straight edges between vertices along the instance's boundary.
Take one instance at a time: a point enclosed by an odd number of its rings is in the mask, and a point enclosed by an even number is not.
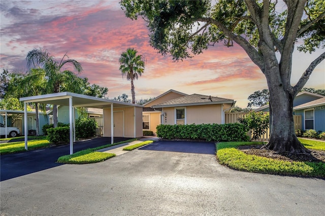
<svg viewBox="0 0 325 216"><path fill-rule="evenodd" d="M161 109L161 124L224 124L224 113L235 103L233 99L191 94L157 103L152 109Z"/></svg>

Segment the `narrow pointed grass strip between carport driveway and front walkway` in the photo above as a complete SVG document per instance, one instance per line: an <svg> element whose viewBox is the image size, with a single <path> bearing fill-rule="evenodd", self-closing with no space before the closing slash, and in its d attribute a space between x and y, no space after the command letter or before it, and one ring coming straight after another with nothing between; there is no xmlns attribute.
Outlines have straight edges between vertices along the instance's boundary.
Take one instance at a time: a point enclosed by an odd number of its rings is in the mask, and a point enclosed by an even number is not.
<svg viewBox="0 0 325 216"><path fill-rule="evenodd" d="M97 150L116 146L116 145L119 145L124 142L132 142L135 140L137 140L137 139L136 138L128 139L125 141L115 142L113 144L108 144L108 145L101 146L101 147L82 150L82 151L76 152L72 155L63 155L63 156L59 157L56 162L67 163L67 164L87 164L87 163L102 162L102 161L105 161L112 157L115 157L115 154L105 153L105 152L96 152Z"/></svg>

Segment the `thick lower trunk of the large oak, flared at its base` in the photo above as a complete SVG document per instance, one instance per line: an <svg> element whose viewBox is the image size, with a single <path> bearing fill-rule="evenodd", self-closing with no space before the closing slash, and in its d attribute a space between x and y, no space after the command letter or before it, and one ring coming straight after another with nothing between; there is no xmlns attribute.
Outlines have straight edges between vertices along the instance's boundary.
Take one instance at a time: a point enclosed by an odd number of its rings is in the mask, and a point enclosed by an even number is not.
<svg viewBox="0 0 325 216"><path fill-rule="evenodd" d="M264 148L273 150L277 153L309 153L298 140L295 133L293 116L294 97L283 90L283 88L270 88L272 111L271 134L267 145Z"/></svg>

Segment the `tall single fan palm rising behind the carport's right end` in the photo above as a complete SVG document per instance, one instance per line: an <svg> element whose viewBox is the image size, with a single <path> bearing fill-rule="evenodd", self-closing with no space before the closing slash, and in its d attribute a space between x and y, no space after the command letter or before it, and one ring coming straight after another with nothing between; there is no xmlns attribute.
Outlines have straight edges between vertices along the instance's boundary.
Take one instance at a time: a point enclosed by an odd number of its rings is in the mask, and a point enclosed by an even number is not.
<svg viewBox="0 0 325 216"><path fill-rule="evenodd" d="M120 71L122 77L126 76L126 80L131 80L132 103L136 103L136 92L134 88L134 79L139 78L144 73L144 57L137 55L138 51L134 48L128 48L121 54L119 58Z"/></svg>

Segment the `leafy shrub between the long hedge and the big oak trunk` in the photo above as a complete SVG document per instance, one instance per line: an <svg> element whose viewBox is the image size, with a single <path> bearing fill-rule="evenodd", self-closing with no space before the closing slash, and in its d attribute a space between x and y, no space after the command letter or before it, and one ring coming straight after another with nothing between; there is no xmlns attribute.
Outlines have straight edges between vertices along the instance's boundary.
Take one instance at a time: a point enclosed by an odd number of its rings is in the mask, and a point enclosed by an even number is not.
<svg viewBox="0 0 325 216"><path fill-rule="evenodd" d="M269 128L270 114L263 112L249 112L244 115L242 118L239 118L238 121L245 125L247 128L252 130L253 137L252 139L258 139L259 136L264 134Z"/></svg>

